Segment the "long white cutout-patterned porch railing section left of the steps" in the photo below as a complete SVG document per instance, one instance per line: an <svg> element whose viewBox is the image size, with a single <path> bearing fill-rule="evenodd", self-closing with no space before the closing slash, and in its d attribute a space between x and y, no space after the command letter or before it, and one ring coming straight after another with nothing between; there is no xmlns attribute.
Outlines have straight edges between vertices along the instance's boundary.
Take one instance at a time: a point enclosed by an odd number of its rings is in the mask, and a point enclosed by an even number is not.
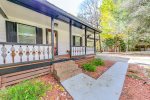
<svg viewBox="0 0 150 100"><path fill-rule="evenodd" d="M0 43L0 65L51 58L50 45Z"/></svg>

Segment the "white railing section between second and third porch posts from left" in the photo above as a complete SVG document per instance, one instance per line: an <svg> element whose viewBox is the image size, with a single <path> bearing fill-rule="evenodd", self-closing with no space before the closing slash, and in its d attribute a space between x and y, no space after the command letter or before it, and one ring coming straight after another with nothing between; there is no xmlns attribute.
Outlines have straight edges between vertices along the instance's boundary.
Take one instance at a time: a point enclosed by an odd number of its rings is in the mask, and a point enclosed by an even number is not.
<svg viewBox="0 0 150 100"><path fill-rule="evenodd" d="M72 56L85 55L85 47L72 47Z"/></svg>

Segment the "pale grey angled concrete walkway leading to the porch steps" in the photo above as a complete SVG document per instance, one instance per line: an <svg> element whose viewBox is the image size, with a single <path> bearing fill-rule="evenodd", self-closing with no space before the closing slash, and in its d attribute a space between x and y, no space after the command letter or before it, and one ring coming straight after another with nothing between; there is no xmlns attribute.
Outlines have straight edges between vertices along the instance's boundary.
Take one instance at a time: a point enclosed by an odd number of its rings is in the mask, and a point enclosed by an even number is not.
<svg viewBox="0 0 150 100"><path fill-rule="evenodd" d="M117 62L97 80L79 74L61 82L74 100L119 100L127 62Z"/></svg>

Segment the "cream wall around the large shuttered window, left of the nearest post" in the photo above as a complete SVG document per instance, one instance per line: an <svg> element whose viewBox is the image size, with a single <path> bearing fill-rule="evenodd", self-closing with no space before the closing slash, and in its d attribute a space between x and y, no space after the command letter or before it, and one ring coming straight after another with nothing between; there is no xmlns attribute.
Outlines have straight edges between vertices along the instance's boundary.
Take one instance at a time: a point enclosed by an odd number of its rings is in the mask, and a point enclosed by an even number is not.
<svg viewBox="0 0 150 100"><path fill-rule="evenodd" d="M14 3L0 0L0 6L5 11L8 19L0 15L0 42L6 42L5 21L12 21L43 29L43 44L46 44L46 28L51 28L51 18Z"/></svg>

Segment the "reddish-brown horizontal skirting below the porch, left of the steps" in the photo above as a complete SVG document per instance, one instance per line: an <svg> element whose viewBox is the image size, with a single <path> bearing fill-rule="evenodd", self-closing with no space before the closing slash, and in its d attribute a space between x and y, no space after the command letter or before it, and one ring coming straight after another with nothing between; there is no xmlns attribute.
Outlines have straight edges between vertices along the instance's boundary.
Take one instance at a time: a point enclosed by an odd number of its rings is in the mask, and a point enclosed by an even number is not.
<svg viewBox="0 0 150 100"><path fill-rule="evenodd" d="M19 83L23 80L28 80L28 79L49 74L50 68L51 66L46 66L46 67L41 67L36 69L30 69L27 71L2 75L0 76L0 87L6 87L12 84Z"/></svg>

